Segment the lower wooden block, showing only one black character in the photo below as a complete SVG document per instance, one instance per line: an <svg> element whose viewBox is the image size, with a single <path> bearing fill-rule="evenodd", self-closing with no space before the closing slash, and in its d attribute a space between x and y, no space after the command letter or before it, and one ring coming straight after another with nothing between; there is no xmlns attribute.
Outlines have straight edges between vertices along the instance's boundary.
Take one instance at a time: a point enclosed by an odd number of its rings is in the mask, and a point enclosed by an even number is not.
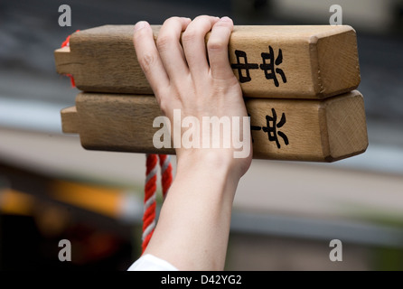
<svg viewBox="0 0 403 289"><path fill-rule="evenodd" d="M254 158L333 162L361 154L368 146L364 103L357 90L324 100L245 98L245 103ZM97 93L80 93L76 109L61 111L64 132L80 134L86 149L174 154L173 148L153 144L160 129L153 121L161 115L154 96Z"/></svg>

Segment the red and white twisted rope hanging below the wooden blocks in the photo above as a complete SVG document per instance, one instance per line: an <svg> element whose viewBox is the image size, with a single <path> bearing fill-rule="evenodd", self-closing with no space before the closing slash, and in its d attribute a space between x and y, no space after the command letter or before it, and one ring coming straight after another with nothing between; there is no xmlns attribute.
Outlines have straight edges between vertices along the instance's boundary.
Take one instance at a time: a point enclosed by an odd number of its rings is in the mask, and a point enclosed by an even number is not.
<svg viewBox="0 0 403 289"><path fill-rule="evenodd" d="M146 171L145 171L145 203L143 215L143 235L142 235L142 252L148 245L155 229L155 209L156 209L156 172L157 165L161 166L163 197L169 191L172 183L172 163L170 156L166 154L146 154Z"/></svg>

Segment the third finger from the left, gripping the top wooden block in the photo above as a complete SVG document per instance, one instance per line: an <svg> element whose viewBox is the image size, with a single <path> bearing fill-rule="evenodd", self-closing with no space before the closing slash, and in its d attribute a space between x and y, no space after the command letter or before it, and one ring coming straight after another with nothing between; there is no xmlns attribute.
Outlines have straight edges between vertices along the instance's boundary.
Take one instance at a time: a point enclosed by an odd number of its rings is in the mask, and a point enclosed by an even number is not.
<svg viewBox="0 0 403 289"><path fill-rule="evenodd" d="M209 72L207 62L205 36L212 26L219 20L218 17L198 16L188 25L182 36L183 51L193 81L204 79Z"/></svg>

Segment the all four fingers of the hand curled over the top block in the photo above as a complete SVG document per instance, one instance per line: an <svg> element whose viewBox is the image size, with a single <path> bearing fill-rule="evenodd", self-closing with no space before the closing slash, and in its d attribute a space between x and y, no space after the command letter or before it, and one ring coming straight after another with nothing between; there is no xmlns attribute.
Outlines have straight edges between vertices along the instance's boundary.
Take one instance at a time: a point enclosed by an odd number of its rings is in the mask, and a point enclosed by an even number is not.
<svg viewBox="0 0 403 289"><path fill-rule="evenodd" d="M137 60L157 100L161 97L159 92L167 91L171 84L183 86L183 76L189 72L196 87L209 74L213 79L233 78L228 57L232 30L233 23L228 17L203 15L193 21L172 17L164 22L155 45L150 25L136 23L133 42ZM207 54L205 35L210 31Z"/></svg>

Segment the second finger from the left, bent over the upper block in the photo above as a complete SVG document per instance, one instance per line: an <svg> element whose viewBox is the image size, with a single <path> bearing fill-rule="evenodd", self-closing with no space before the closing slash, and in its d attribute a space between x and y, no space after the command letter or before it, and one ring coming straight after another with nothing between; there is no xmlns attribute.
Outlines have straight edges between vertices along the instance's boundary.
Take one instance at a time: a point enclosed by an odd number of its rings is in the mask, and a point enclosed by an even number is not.
<svg viewBox="0 0 403 289"><path fill-rule="evenodd" d="M183 75L189 73L180 39L191 21L189 18L169 18L161 27L156 41L168 78L175 83L181 82Z"/></svg>

